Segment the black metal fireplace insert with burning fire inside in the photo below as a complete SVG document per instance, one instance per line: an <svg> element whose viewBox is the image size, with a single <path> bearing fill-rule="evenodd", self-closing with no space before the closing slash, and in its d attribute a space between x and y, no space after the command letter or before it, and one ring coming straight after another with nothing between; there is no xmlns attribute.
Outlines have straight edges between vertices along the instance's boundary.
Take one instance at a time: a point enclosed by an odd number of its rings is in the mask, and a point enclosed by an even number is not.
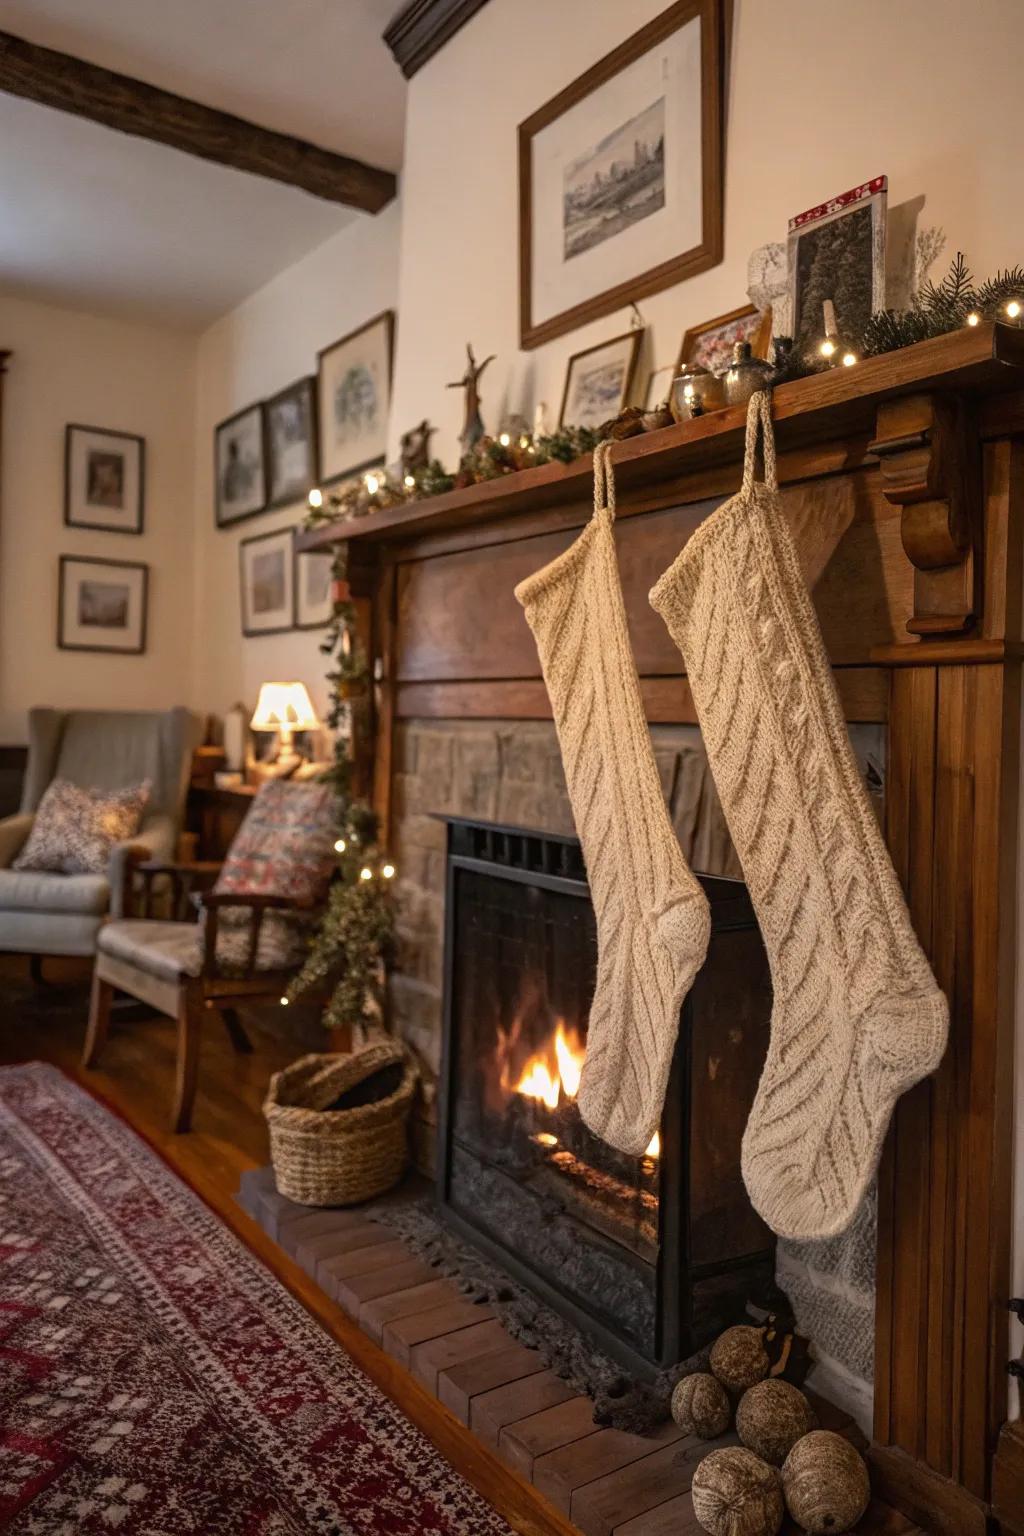
<svg viewBox="0 0 1024 1536"><path fill-rule="evenodd" d="M439 1201L445 1221L639 1375L768 1296L772 1236L740 1177L771 1014L738 880L702 877L708 960L643 1157L576 1107L597 935L579 843L447 819Z"/></svg>

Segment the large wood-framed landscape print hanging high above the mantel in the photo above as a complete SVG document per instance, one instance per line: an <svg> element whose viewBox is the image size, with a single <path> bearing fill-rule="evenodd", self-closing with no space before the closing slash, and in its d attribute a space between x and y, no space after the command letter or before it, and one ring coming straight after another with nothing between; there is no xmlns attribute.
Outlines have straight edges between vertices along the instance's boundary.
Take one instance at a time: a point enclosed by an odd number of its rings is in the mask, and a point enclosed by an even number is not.
<svg viewBox="0 0 1024 1536"><path fill-rule="evenodd" d="M524 347L722 261L722 57L679 0L519 124Z"/></svg>

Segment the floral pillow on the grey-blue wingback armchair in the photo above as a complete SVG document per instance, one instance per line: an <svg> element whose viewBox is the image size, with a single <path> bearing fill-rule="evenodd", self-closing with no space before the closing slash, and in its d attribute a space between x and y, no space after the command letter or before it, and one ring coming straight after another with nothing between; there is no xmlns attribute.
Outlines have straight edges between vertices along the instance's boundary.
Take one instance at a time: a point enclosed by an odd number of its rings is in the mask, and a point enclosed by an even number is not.
<svg viewBox="0 0 1024 1536"><path fill-rule="evenodd" d="M81 790L54 779L14 869L106 874L111 849L134 837L149 802L149 779L127 790Z"/></svg>

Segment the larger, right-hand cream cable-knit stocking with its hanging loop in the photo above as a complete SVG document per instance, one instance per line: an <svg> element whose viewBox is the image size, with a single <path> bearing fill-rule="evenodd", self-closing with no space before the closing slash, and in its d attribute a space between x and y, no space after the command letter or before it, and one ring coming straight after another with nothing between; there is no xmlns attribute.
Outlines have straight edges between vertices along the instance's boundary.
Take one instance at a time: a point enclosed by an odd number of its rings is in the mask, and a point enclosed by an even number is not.
<svg viewBox="0 0 1024 1536"><path fill-rule="evenodd" d="M860 1206L898 1095L938 1066L947 1006L846 733L781 513L766 395L751 401L740 495L689 539L651 604L686 662L772 969L743 1178L781 1236L827 1238Z"/></svg>

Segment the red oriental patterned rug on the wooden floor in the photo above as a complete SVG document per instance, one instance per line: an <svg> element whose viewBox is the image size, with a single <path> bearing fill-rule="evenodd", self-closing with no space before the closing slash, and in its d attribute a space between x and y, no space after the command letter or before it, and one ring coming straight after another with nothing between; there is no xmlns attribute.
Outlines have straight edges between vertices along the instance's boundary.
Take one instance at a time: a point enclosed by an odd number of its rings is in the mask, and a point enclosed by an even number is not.
<svg viewBox="0 0 1024 1536"><path fill-rule="evenodd" d="M508 1536L140 1138L0 1071L0 1528Z"/></svg>

